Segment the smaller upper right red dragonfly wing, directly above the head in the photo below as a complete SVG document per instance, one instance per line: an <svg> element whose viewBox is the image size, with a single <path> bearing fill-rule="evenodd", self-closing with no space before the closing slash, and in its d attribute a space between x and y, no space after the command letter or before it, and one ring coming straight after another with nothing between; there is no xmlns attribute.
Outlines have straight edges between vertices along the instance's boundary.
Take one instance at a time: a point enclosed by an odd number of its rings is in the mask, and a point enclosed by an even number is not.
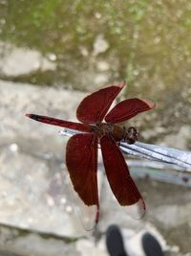
<svg viewBox="0 0 191 256"><path fill-rule="evenodd" d="M105 121L108 123L124 122L138 113L154 108L156 105L149 100L128 99L120 102L106 115Z"/></svg>

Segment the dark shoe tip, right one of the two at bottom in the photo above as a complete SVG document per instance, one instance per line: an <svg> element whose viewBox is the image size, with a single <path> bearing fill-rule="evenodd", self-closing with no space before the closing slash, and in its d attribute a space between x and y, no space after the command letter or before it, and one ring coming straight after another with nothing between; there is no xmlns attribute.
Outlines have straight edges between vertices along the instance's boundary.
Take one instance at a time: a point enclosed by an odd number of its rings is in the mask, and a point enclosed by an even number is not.
<svg viewBox="0 0 191 256"><path fill-rule="evenodd" d="M145 233L142 236L142 247L146 256L163 256L158 240L151 234Z"/></svg>

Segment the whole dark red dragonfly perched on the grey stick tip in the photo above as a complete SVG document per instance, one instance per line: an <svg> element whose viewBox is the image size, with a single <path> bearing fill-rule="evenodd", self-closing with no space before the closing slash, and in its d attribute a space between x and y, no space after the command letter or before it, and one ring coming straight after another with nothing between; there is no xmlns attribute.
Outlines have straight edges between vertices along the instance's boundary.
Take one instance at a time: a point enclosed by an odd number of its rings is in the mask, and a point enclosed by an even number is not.
<svg viewBox="0 0 191 256"><path fill-rule="evenodd" d="M138 129L121 127L138 113L153 109L156 104L145 99L126 99L111 107L126 82L108 85L85 97L76 109L80 123L27 113L26 116L45 124L77 131L66 146L66 166L74 191L91 209L95 228L99 221L97 186L97 151L100 148L105 174L118 203L124 209L136 209L136 219L144 216L146 207L138 187L119 148L120 142L134 144ZM111 109L112 108L112 109Z"/></svg>

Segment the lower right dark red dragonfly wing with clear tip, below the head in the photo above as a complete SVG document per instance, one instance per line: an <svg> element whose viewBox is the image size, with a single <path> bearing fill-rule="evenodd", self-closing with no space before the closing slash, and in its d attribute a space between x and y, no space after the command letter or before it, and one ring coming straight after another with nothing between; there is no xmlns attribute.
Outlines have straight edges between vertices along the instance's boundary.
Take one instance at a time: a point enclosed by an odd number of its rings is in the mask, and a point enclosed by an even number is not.
<svg viewBox="0 0 191 256"><path fill-rule="evenodd" d="M135 211L133 217L141 218L145 213L145 204L115 140L109 136L103 136L100 139L100 145L106 175L117 201L121 206L132 205Z"/></svg>

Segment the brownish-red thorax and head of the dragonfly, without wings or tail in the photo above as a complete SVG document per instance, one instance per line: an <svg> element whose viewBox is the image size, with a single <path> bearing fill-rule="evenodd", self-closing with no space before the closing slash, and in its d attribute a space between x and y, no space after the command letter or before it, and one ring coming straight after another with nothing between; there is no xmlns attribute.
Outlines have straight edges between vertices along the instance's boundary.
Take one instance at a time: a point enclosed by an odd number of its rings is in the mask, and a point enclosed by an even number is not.
<svg viewBox="0 0 191 256"><path fill-rule="evenodd" d="M93 126L93 132L96 133L98 138L102 136L110 135L116 141L125 141L129 144L133 144L138 140L137 128L121 128L114 124L100 123Z"/></svg>

